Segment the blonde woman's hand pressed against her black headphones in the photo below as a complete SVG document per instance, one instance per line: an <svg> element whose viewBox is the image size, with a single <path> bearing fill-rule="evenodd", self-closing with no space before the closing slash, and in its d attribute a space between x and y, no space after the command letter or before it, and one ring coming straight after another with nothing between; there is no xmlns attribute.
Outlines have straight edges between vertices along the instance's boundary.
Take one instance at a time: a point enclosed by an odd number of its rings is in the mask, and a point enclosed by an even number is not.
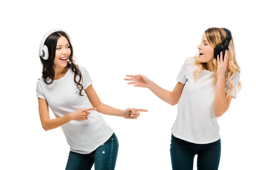
<svg viewBox="0 0 256 170"><path fill-rule="evenodd" d="M225 76L225 72L227 69L228 53L229 52L226 50L224 59L222 57L222 51L221 51L221 57L217 56L217 62L218 62L217 77Z"/></svg>

